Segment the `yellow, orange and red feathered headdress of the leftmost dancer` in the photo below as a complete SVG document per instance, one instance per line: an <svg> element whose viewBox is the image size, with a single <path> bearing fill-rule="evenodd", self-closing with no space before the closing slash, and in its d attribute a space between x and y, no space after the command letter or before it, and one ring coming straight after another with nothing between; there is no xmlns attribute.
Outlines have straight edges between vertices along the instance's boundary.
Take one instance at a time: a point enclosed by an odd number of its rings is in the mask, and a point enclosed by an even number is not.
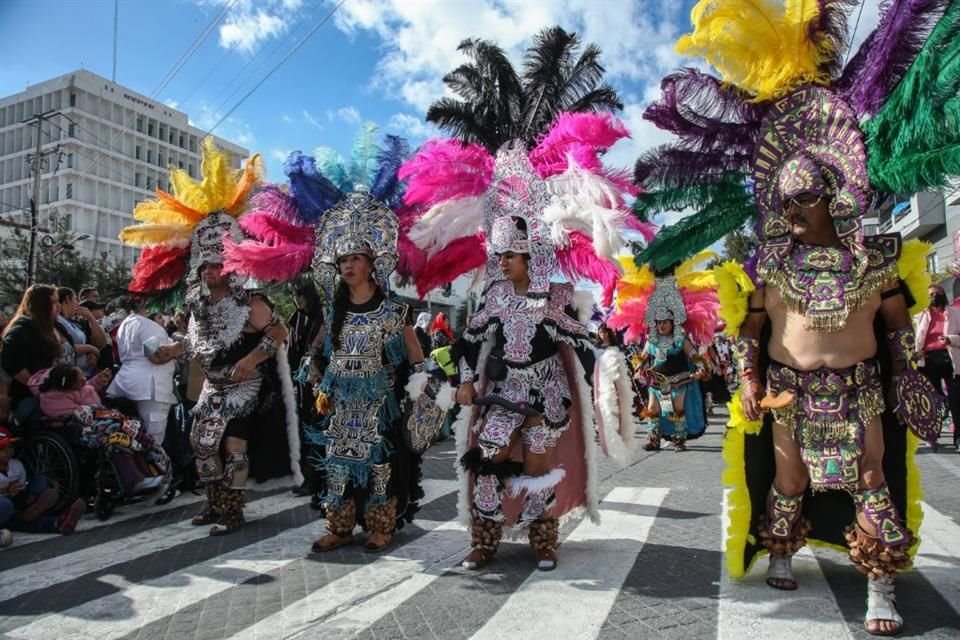
<svg viewBox="0 0 960 640"><path fill-rule="evenodd" d="M173 193L158 188L156 199L133 210L140 224L120 232L124 244L143 247L130 291L156 294L194 284L201 266L223 264L225 236L234 241L242 237L237 220L264 173L260 155L248 159L243 169L231 169L226 152L208 137L200 173L197 181L171 167Z"/></svg>

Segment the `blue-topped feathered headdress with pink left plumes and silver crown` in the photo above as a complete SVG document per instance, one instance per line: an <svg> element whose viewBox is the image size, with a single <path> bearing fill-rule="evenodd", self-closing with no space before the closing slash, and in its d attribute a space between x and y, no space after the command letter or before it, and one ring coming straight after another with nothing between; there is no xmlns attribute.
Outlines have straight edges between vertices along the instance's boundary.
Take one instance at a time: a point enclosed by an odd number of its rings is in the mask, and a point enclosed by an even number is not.
<svg viewBox="0 0 960 640"><path fill-rule="evenodd" d="M405 140L375 140L377 128L361 128L350 162L319 148L299 151L284 163L286 188L267 186L254 194L240 221L250 240L225 245L225 269L258 280L286 281L311 266L332 299L336 262L350 253L373 260L375 278L385 286L397 262L397 216L402 184L397 170L409 153Z"/></svg>

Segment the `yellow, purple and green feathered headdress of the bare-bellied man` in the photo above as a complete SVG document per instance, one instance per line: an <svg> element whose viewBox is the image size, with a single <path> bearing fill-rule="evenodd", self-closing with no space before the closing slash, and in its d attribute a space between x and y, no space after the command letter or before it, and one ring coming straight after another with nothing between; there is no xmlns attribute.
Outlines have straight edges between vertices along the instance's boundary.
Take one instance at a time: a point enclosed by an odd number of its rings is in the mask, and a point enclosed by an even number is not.
<svg viewBox="0 0 960 640"><path fill-rule="evenodd" d="M644 117L676 140L642 156L634 211L695 209L637 255L664 269L758 215L783 237L785 171L804 160L830 191L841 236L859 233L872 189L912 193L960 173L956 110L960 2L892 0L845 63L850 0L701 0L681 54L719 77L682 69ZM862 133L861 133L862 131ZM817 176L813 176L816 178ZM755 185L755 189L754 189Z"/></svg>

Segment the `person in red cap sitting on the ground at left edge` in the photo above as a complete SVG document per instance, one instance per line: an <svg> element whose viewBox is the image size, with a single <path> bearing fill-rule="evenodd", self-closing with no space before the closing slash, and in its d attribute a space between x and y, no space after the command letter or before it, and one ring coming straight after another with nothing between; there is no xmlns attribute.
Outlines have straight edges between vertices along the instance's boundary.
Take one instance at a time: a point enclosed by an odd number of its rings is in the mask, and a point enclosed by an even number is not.
<svg viewBox="0 0 960 640"><path fill-rule="evenodd" d="M26 533L73 533L86 504L78 498L60 516L49 515L60 496L42 475L27 477L23 463L13 457L17 440L9 429L0 427L0 527ZM12 536L3 537L7 544L13 542Z"/></svg>

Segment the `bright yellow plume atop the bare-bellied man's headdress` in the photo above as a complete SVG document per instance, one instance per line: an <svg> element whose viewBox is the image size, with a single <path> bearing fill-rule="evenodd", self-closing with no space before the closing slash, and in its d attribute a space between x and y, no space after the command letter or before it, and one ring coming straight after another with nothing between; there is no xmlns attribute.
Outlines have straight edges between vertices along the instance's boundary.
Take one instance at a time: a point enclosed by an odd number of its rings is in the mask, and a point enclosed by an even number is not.
<svg viewBox="0 0 960 640"><path fill-rule="evenodd" d="M693 33L676 50L703 58L754 101L770 100L802 84L830 82L825 62L836 45L816 37L819 18L817 0L700 0L690 14Z"/></svg>

